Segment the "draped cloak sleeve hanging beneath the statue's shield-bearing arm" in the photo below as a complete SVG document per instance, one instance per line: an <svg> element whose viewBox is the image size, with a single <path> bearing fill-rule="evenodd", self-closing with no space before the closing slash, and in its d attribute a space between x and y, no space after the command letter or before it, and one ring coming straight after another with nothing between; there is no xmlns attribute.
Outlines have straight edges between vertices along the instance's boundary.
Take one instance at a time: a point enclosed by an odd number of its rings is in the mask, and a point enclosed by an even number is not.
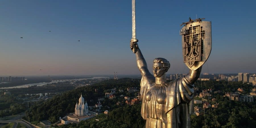
<svg viewBox="0 0 256 128"><path fill-rule="evenodd" d="M166 91L166 113L181 103L193 100L194 85L190 84L185 77L170 82Z"/></svg>

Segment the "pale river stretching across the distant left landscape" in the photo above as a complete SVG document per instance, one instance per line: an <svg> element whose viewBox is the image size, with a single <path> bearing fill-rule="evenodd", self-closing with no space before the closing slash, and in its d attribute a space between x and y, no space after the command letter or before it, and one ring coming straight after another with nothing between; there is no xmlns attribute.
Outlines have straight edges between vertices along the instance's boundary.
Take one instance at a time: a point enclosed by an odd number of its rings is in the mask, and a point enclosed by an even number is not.
<svg viewBox="0 0 256 128"><path fill-rule="evenodd" d="M32 83L32 84L23 84L23 85L19 85L19 86L13 86L13 87L4 87L4 88L0 88L0 89L10 89L10 88L27 88L29 86L43 86L46 84L51 84L51 83L57 83L57 82L65 82L65 81L77 81L77 80L86 80L86 79L101 79L101 78L109 78L109 77L93 77L93 78L83 78L83 79L70 79L70 80L57 80L57 81L51 81L51 82L41 82L41 83Z"/></svg>

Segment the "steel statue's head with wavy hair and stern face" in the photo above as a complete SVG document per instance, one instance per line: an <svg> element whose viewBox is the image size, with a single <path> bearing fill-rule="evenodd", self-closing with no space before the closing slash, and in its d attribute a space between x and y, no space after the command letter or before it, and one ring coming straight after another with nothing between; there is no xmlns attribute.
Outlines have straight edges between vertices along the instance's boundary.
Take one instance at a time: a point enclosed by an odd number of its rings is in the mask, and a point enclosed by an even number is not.
<svg viewBox="0 0 256 128"><path fill-rule="evenodd" d="M164 73L170 68L170 63L167 59L156 58L153 61L153 74L154 77L162 77Z"/></svg>

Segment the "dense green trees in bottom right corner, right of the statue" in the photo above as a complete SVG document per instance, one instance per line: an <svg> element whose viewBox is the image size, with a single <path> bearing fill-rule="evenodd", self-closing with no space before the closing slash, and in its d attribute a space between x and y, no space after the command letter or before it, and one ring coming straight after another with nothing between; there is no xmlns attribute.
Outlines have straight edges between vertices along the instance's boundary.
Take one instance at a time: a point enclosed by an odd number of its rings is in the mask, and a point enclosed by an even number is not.
<svg viewBox="0 0 256 128"><path fill-rule="evenodd" d="M218 108L205 109L199 116L191 115L192 127L255 127L255 102L237 102L220 97ZM205 117L204 117L205 116ZM204 119L205 118L205 119ZM215 123L215 124L214 124Z"/></svg>

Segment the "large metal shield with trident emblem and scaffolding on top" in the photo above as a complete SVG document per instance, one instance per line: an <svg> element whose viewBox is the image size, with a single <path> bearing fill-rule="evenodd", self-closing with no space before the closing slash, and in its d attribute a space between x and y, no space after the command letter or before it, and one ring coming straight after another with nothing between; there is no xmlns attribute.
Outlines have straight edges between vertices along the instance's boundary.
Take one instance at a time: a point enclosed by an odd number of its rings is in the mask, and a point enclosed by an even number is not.
<svg viewBox="0 0 256 128"><path fill-rule="evenodd" d="M183 61L193 71L208 59L212 49L211 22L190 20L181 30ZM183 25L181 24L181 25Z"/></svg>

